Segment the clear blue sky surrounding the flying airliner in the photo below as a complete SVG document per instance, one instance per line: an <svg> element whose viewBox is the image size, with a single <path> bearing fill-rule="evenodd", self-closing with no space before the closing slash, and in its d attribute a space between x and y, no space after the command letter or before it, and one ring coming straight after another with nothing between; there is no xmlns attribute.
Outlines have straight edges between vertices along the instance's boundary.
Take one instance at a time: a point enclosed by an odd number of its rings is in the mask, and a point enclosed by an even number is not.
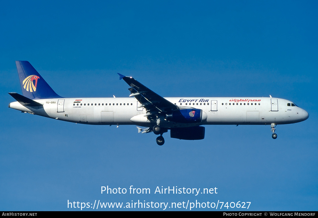
<svg viewBox="0 0 318 218"><path fill-rule="evenodd" d="M316 1L2 3L0 210L80 210L67 208L68 200L317 210L316 11ZM276 140L268 125L216 125L206 126L204 140L165 133L157 146L154 134L135 126L80 125L8 108L7 93L21 93L16 60L30 61L63 97L127 97L120 73L163 97L271 94L310 116L278 125ZM101 194L107 185L151 193ZM157 186L217 187L218 194L154 194Z"/></svg>

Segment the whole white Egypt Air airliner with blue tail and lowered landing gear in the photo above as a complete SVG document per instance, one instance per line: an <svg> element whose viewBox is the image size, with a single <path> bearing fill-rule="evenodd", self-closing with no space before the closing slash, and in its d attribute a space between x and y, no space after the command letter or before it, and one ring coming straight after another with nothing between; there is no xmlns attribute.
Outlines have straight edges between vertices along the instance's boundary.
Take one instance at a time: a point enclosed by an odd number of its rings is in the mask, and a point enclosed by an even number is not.
<svg viewBox="0 0 318 218"><path fill-rule="evenodd" d="M67 122L90 125L136 125L138 132L153 132L158 145L162 134L171 138L204 139L202 125L271 125L308 119L309 114L290 100L270 97L163 98L132 77L119 74L130 88L128 98L63 98L56 94L28 61L16 61L22 94L10 108Z"/></svg>

